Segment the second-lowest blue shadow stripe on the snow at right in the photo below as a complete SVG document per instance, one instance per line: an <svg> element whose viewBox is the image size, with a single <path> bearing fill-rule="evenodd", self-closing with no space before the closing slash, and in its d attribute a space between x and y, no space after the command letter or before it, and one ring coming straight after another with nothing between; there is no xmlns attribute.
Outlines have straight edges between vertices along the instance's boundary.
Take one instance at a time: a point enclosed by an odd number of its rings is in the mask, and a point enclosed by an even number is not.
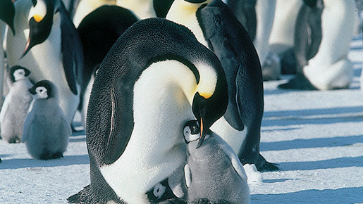
<svg viewBox="0 0 363 204"><path fill-rule="evenodd" d="M363 156L334 158L330 160L319 160L309 162L279 162L281 172L285 171L305 171L324 170L343 167L363 167Z"/></svg>

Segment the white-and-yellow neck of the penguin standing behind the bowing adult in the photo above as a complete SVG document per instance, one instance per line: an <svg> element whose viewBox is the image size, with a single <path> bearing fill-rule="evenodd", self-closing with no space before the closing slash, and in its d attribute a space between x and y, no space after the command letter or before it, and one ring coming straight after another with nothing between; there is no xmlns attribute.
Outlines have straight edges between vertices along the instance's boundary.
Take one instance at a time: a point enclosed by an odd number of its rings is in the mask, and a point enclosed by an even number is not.
<svg viewBox="0 0 363 204"><path fill-rule="evenodd" d="M171 5L171 8L166 15L166 19L185 25L187 28L192 30L193 34L195 34L195 37L201 44L208 47L202 28L197 20L197 11L200 6L209 4L210 1L211 0L205 1L202 4L192 4L187 1L176 0Z"/></svg>

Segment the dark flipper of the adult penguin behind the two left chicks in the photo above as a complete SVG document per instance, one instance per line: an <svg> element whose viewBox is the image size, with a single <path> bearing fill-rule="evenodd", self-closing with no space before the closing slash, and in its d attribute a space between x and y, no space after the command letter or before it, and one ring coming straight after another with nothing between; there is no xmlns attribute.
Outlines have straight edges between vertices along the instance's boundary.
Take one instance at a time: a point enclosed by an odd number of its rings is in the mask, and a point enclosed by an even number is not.
<svg viewBox="0 0 363 204"><path fill-rule="evenodd" d="M73 94L78 94L76 82L82 84L83 50L78 31L70 20L63 2L60 1L61 13L61 50L63 69L68 86Z"/></svg>

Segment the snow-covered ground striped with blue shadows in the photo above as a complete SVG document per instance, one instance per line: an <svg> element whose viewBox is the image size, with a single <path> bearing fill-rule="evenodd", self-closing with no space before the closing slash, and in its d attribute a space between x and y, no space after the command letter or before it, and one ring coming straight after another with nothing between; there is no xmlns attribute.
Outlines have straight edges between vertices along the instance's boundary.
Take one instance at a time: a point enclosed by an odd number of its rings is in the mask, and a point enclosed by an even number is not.
<svg viewBox="0 0 363 204"><path fill-rule="evenodd" d="M352 40L350 89L284 91L265 82L261 151L281 170L252 184L251 203L363 203L362 37ZM284 79L287 79L285 77ZM90 184L85 135L70 137L65 157L34 160L25 144L0 140L0 203L66 203Z"/></svg>

